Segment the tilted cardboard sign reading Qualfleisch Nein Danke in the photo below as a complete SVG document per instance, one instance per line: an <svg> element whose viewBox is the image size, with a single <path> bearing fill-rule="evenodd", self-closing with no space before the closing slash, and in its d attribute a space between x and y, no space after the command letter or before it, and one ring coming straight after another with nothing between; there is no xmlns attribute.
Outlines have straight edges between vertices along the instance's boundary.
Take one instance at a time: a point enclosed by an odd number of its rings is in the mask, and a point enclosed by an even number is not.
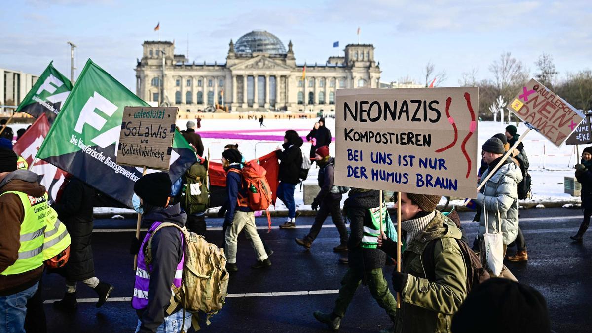
<svg viewBox="0 0 592 333"><path fill-rule="evenodd" d="M584 119L580 110L535 79L530 79L507 108L558 147Z"/></svg>

